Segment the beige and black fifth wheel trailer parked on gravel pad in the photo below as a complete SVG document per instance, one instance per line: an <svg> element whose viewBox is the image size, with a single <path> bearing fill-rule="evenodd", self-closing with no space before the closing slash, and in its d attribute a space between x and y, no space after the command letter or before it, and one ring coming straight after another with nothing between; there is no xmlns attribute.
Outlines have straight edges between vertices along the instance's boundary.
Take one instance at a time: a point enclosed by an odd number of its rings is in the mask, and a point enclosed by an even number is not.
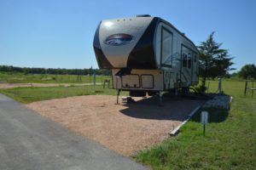
<svg viewBox="0 0 256 170"><path fill-rule="evenodd" d="M159 17L102 20L93 47L99 68L112 70L113 88L131 96L161 95L198 83L195 44Z"/></svg>

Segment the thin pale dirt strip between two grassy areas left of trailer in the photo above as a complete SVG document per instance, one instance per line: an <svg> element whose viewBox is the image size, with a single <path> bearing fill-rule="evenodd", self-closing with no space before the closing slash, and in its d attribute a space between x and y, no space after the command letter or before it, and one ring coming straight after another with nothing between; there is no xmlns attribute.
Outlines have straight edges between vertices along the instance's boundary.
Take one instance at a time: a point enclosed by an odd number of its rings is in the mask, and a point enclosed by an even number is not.
<svg viewBox="0 0 256 170"><path fill-rule="evenodd" d="M102 83L96 83L97 85L101 85ZM93 85L92 83L80 83L80 84L72 84L72 83L0 83L0 88L19 88L19 87L56 87L56 86L84 86L84 85Z"/></svg>

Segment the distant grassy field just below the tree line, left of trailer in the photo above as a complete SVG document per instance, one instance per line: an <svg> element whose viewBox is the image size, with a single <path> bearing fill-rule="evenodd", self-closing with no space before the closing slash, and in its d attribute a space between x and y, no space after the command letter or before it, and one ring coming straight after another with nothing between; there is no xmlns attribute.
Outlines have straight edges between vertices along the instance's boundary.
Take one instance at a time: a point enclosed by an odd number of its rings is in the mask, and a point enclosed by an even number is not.
<svg viewBox="0 0 256 170"><path fill-rule="evenodd" d="M96 76L96 82L103 82L104 79L111 79L108 76ZM48 75L48 74L23 74L0 71L0 82L9 83L90 83L93 77L82 76L78 81L77 75Z"/></svg>

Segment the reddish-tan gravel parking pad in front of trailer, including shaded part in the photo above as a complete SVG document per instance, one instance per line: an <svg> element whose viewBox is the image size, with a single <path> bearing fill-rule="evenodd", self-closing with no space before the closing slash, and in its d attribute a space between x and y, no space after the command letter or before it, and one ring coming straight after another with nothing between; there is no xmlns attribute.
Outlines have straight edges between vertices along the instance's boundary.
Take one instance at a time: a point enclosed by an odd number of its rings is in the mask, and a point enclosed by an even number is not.
<svg viewBox="0 0 256 170"><path fill-rule="evenodd" d="M80 135L132 156L169 137L169 132L202 101L164 98L134 98L129 105L115 105L116 97L89 95L51 99L26 105Z"/></svg>

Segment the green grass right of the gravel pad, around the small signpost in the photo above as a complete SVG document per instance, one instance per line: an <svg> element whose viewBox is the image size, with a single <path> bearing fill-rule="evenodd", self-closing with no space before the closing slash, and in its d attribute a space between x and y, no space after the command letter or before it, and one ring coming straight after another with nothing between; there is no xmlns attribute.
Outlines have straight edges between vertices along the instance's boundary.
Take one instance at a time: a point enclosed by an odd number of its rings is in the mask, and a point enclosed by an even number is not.
<svg viewBox="0 0 256 170"><path fill-rule="evenodd" d="M216 92L218 82L210 82ZM243 95L244 82L223 82L225 94L233 96L229 112L210 110L206 137L198 115L181 133L149 150L137 161L153 169L256 169L256 96Z"/></svg>

